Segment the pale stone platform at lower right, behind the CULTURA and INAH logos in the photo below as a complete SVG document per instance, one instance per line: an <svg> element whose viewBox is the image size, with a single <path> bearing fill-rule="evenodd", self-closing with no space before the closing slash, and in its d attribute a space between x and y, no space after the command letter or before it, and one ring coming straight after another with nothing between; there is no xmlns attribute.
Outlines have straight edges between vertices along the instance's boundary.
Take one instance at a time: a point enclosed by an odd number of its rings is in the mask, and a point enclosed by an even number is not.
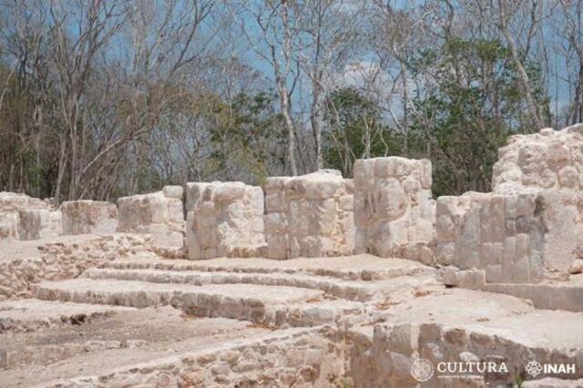
<svg viewBox="0 0 583 388"><path fill-rule="evenodd" d="M566 382L583 378L583 313L536 310L511 296L461 289L400 307L394 306L380 322L349 329L353 359L348 374L356 386L414 386L418 382L410 365L419 357L435 368L426 383L431 387L452 381L447 376L452 373L437 369L439 362L505 362L507 373L486 374L486 382L479 373L454 373L459 385L452 386L514 386L517 376ZM531 361L575 365L575 373L532 377L526 373ZM378 370L384 373L371 373ZM480 384L471 383L476 379Z"/></svg>

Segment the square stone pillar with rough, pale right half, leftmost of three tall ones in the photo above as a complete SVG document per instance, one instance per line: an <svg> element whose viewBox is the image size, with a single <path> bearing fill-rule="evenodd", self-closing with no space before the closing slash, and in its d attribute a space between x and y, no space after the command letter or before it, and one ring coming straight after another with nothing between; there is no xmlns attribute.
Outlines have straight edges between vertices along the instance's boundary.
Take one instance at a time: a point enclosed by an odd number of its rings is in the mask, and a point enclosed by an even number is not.
<svg viewBox="0 0 583 388"><path fill-rule="evenodd" d="M190 260L261 256L263 190L242 182L187 183Z"/></svg>

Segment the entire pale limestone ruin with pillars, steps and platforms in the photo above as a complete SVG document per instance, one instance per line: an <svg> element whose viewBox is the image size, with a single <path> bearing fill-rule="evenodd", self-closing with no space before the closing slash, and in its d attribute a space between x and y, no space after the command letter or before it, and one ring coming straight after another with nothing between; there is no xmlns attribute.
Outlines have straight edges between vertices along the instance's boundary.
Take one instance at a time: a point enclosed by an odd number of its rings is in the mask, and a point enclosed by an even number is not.
<svg viewBox="0 0 583 388"><path fill-rule="evenodd" d="M582 151L583 125L511 137L492 192L436 200L397 157L117 206L0 193L0 385L583 386Z"/></svg>

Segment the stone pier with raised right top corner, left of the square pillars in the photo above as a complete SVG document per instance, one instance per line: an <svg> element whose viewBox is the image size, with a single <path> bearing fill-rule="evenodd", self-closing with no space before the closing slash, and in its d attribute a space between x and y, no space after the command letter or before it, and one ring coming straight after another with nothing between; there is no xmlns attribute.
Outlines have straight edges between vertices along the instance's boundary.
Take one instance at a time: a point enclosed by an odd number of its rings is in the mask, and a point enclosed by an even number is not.
<svg viewBox="0 0 583 388"><path fill-rule="evenodd" d="M182 247L183 194L181 186L165 186L155 193L118 199L118 231L151 234L159 247Z"/></svg>

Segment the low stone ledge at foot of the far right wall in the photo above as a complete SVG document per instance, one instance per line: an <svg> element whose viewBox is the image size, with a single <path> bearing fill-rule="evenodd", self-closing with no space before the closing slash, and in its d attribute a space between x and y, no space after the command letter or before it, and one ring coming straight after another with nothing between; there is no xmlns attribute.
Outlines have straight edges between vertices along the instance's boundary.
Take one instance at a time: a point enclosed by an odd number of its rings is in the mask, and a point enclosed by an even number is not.
<svg viewBox="0 0 583 388"><path fill-rule="evenodd" d="M532 301L537 309L583 312L583 278L538 284L486 283L486 291Z"/></svg>

